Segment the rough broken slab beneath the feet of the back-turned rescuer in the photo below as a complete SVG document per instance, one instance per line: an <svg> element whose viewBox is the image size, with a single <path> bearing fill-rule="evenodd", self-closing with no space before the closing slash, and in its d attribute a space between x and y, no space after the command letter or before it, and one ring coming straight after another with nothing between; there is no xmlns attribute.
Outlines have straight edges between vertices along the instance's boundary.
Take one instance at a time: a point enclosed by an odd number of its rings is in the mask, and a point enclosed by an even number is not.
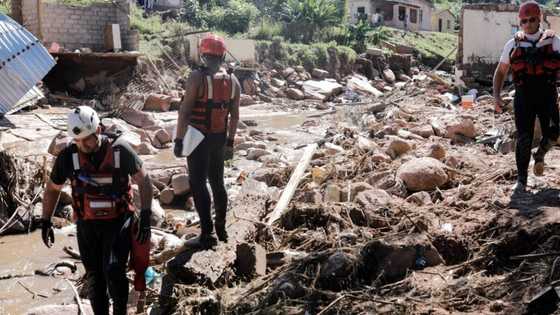
<svg viewBox="0 0 560 315"><path fill-rule="evenodd" d="M228 242L220 242L213 250L189 248L184 244L175 250L178 254L167 263L168 274L184 284L218 285L226 268L235 264L237 245L250 242L257 231L256 224L239 219L237 214L242 213L244 218L259 220L264 214L268 199L266 184L247 180L226 217Z"/></svg>

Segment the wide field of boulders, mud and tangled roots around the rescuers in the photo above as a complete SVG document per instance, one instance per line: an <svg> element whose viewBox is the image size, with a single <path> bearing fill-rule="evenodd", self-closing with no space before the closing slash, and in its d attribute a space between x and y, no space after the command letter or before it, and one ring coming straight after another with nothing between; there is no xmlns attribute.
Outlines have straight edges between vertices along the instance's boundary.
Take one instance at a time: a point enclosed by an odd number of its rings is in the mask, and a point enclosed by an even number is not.
<svg viewBox="0 0 560 315"><path fill-rule="evenodd" d="M445 314L549 305L560 277L555 164L512 196L511 107L497 116L486 92L469 91L476 101L466 109L449 74L402 60L397 70L376 51L363 59L364 75L339 80L302 67L239 76L230 240L214 250L185 242L199 228L185 162L171 150L181 83L151 77L149 93L130 88L104 115L105 131L142 155L154 184L152 266L164 276L150 283L151 308ZM286 129L309 137L243 118L255 108L300 115ZM68 143L60 132L49 153ZM68 225L68 187L60 200L57 226Z"/></svg>

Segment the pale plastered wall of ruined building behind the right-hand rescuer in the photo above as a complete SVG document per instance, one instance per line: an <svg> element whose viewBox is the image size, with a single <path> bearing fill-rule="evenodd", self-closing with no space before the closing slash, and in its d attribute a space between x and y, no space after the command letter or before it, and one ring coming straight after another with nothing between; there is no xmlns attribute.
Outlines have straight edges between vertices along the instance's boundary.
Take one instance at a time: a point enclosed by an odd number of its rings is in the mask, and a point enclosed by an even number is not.
<svg viewBox="0 0 560 315"><path fill-rule="evenodd" d="M463 6L456 59L456 79L459 82L467 86L492 85L504 45L519 30L518 9L513 4ZM558 34L560 17L545 12L542 27L553 29Z"/></svg>

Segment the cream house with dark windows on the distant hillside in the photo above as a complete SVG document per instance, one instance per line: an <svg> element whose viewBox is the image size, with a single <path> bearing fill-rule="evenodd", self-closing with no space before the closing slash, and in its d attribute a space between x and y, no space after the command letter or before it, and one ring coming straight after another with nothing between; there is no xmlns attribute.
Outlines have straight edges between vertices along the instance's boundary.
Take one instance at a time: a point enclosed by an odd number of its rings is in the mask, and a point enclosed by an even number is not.
<svg viewBox="0 0 560 315"><path fill-rule="evenodd" d="M429 0L349 0L351 23L365 18L375 23L376 14L382 24L413 31L431 31L434 4Z"/></svg>

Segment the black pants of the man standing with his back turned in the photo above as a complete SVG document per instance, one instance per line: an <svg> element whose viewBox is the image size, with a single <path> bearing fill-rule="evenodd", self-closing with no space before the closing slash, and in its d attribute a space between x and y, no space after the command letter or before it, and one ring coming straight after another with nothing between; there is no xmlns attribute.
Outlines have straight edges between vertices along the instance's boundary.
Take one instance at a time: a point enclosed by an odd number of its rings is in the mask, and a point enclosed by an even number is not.
<svg viewBox="0 0 560 315"><path fill-rule="evenodd" d="M202 234L213 231L210 212L210 193L206 180L210 182L216 210L216 225L225 225L227 210L227 192L224 185L224 148L225 134L208 134L187 158L189 181L193 193L194 205L200 217Z"/></svg>

